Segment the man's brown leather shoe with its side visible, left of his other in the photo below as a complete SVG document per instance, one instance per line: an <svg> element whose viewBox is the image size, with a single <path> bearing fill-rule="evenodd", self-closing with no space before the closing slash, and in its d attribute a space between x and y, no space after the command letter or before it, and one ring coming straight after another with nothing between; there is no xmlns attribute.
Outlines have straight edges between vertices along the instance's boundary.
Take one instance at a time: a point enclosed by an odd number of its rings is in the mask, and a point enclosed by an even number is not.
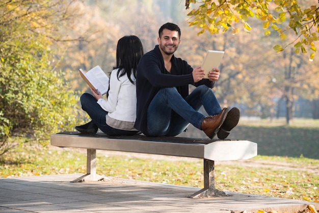
<svg viewBox="0 0 319 213"><path fill-rule="evenodd" d="M208 116L204 118L201 129L205 132L208 138L212 139L216 136L219 128L223 124L228 113L228 108L224 108L218 115Z"/></svg>

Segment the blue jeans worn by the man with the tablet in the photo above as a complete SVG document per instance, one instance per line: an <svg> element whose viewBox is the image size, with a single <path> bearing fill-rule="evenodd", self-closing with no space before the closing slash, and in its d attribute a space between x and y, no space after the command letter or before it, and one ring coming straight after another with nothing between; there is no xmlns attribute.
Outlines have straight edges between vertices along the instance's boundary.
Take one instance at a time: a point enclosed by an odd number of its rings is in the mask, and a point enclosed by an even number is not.
<svg viewBox="0 0 319 213"><path fill-rule="evenodd" d="M162 88L154 96L147 109L146 136L177 136L191 123L201 129L205 116L199 113L204 107L208 115L222 112L212 90L201 85L185 99L175 87Z"/></svg>

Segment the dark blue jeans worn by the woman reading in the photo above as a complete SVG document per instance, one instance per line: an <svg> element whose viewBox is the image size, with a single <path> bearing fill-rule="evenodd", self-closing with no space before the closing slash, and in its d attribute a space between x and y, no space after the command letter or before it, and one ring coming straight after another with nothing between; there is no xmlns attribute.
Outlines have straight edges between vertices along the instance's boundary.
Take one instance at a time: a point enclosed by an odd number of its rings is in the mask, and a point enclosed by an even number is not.
<svg viewBox="0 0 319 213"><path fill-rule="evenodd" d="M109 136L132 136L136 135L138 131L128 131L122 129L116 129L109 126L106 123L105 116L108 114L107 111L103 110L97 103L95 97L89 93L84 93L81 98L82 109L88 113L93 122L97 127Z"/></svg>

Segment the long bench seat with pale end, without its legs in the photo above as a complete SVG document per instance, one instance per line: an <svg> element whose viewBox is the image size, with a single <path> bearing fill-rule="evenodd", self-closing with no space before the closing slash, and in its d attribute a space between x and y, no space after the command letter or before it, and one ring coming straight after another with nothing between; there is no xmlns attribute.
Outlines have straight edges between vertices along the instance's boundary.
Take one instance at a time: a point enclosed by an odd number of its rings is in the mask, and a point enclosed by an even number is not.
<svg viewBox="0 0 319 213"><path fill-rule="evenodd" d="M59 147L195 157L212 161L248 159L257 155L257 144L250 141L181 137L109 137L104 134L82 135L78 132L59 132L50 137L51 145Z"/></svg>

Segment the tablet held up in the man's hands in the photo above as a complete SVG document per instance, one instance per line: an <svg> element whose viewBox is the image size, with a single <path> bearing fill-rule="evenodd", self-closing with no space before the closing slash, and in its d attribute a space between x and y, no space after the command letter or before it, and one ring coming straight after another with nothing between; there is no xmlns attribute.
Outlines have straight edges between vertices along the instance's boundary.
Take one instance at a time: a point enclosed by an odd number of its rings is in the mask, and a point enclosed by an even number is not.
<svg viewBox="0 0 319 213"><path fill-rule="evenodd" d="M224 51L208 50L201 68L205 71L204 78L208 78L208 73L212 68L219 67L222 58L224 56Z"/></svg>

